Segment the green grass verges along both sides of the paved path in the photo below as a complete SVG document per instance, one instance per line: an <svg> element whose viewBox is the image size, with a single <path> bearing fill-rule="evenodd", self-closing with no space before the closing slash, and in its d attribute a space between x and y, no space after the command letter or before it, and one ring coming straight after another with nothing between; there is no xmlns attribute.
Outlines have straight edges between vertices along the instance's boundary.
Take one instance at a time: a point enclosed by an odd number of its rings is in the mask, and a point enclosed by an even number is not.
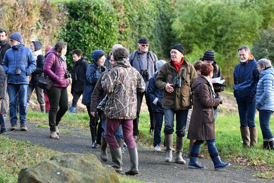
<svg viewBox="0 0 274 183"><path fill-rule="evenodd" d="M28 112L27 120L32 122L40 122L40 128L47 128L48 114ZM153 135L150 134L149 115L140 114L139 131L140 136L138 143L142 144L147 150L153 150ZM255 123L258 128L258 144L254 148L242 148L242 139L240 132L240 120L238 115L218 115L215 122L216 132L216 147L220 153L221 159L229 162L238 163L234 168L254 168L258 170L254 176L264 179L274 178L274 151L263 150L263 137L259 128L259 118L256 115ZM274 131L274 118L271 117L270 128ZM67 112L60 124L70 125L74 128L89 129L89 116L87 112L72 114ZM176 126L176 123L175 123ZM164 127L164 125L163 125ZM59 129L65 133L69 132L65 129ZM187 134L186 134L187 135ZM163 147L163 128L162 128L162 143ZM174 146L176 134L173 137ZM44 160L49 160L51 156L60 154L60 152L32 145L29 142L20 142L12 139L7 139L3 135L0 136L1 161L0 161L0 183L16 183L17 176L21 168L29 165L35 165ZM189 140L185 138L183 153L189 151ZM205 144L202 145L201 154L206 158L210 158ZM259 170L263 172L259 172ZM141 183L130 177L119 175L120 183Z"/></svg>

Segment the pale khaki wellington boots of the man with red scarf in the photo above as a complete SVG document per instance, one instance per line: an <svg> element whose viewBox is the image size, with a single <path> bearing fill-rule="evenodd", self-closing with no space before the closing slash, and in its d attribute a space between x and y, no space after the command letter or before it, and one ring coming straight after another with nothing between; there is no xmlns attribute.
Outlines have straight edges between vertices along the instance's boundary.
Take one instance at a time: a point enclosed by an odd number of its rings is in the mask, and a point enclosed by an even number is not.
<svg viewBox="0 0 274 183"><path fill-rule="evenodd" d="M182 157L183 146L185 137L176 137L176 156L175 163L185 164L185 160ZM172 162L172 147L173 147L173 134L165 134L165 141L167 146L167 155L165 162Z"/></svg>

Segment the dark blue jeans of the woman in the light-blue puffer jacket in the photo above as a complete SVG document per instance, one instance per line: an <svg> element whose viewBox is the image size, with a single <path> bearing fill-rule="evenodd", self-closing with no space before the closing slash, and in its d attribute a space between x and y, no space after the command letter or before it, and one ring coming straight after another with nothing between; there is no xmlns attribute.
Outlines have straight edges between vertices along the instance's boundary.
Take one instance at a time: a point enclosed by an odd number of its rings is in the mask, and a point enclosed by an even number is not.
<svg viewBox="0 0 274 183"><path fill-rule="evenodd" d="M263 139L272 139L273 134L269 129L269 120L272 115L273 111L270 110L260 110L259 111L259 119L260 119L260 126L263 133Z"/></svg>

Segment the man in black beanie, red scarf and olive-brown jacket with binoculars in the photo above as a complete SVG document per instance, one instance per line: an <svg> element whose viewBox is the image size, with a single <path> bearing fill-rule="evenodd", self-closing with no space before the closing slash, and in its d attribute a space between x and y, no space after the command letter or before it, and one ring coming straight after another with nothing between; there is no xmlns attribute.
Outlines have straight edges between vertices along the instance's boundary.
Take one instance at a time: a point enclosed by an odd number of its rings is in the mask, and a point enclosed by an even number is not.
<svg viewBox="0 0 274 183"><path fill-rule="evenodd" d="M171 60L160 68L156 77L156 86L164 91L162 107L165 116L165 141L167 155L165 162L172 162L174 116L176 115L176 157L175 163L185 164L182 158L185 140L185 126L188 110L191 108L190 87L197 78L194 66L184 59L184 47L172 46Z"/></svg>

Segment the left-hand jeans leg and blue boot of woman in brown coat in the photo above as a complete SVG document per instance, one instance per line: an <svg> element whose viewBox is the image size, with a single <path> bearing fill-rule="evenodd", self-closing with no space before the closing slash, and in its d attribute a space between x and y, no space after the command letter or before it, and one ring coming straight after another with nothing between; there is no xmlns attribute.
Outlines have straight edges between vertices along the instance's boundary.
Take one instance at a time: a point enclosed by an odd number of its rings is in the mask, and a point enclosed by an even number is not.
<svg viewBox="0 0 274 183"><path fill-rule="evenodd" d="M205 169L205 166L201 166L198 163L198 158L200 154L202 141L195 141L194 144L191 147L190 151L190 159L188 163L188 168L196 168L196 169Z"/></svg>

